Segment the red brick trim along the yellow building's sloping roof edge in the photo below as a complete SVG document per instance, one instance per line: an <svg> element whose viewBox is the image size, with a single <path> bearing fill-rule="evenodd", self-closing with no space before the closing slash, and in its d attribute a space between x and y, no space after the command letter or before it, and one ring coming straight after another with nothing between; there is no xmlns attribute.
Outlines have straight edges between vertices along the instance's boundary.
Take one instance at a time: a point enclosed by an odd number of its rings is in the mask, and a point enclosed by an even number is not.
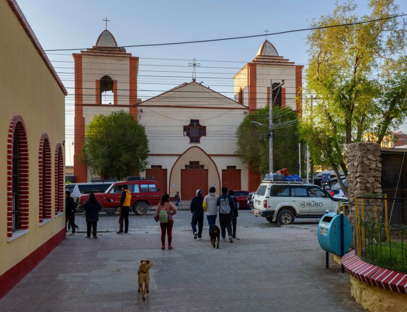
<svg viewBox="0 0 407 312"><path fill-rule="evenodd" d="M33 43L34 47L37 49L37 52L39 53L40 57L44 60L44 63L48 67L52 76L54 76L56 83L59 85L59 88L61 88L64 95L68 95L68 91L66 91L64 84L59 79L58 75L56 74L54 67L52 66L50 60L48 59L47 55L45 54L44 50L42 49L41 44L39 44L39 41L38 41L36 35L34 34L34 31L31 29L30 24L26 20L19 5L17 4L17 1L8 0L8 4L10 5L11 9L14 11L14 14L16 14L16 17L19 19L22 28L24 28L25 32L27 33L28 37L30 38L31 42Z"/></svg>

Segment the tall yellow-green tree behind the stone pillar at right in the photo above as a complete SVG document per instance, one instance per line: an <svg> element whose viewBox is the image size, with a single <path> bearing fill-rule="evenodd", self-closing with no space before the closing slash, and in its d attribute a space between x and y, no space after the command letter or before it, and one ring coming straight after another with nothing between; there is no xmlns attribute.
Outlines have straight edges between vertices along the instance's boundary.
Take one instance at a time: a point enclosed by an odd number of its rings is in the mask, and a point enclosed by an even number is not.
<svg viewBox="0 0 407 312"><path fill-rule="evenodd" d="M352 1L336 3L329 16L312 27L377 20L315 29L308 36L305 93L313 95L304 105L301 138L310 145L315 164L347 176L346 144L373 134L383 137L406 117L406 25L388 18L398 14L393 0L370 0L370 15L355 15ZM341 185L346 190L344 185Z"/></svg>

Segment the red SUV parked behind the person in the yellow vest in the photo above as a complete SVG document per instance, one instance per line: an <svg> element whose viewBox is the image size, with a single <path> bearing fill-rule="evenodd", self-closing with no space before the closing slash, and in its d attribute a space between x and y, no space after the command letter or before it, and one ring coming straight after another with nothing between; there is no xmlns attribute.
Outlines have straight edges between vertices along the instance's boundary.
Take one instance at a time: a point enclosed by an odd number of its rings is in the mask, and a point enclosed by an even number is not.
<svg viewBox="0 0 407 312"><path fill-rule="evenodd" d="M95 197L102 205L102 209L109 215L114 214L119 208L122 195L121 186L126 184L131 193L131 207L136 215L146 215L151 206L160 203L160 187L155 180L131 180L114 183L105 193L95 193ZM80 196L80 208L89 195Z"/></svg>

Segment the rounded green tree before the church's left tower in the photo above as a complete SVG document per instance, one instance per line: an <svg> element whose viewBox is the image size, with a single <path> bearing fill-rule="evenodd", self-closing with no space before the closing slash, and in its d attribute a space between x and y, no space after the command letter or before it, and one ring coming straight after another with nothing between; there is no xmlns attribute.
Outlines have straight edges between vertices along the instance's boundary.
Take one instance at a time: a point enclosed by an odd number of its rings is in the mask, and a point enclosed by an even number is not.
<svg viewBox="0 0 407 312"><path fill-rule="evenodd" d="M97 115L86 126L82 153L92 174L120 180L142 172L148 152L145 128L128 112Z"/></svg>

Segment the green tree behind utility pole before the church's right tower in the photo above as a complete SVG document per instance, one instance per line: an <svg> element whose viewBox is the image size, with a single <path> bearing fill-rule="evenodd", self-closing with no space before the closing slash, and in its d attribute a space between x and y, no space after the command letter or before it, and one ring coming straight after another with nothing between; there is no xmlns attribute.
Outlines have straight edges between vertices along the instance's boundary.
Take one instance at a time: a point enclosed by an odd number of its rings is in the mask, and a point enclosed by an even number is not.
<svg viewBox="0 0 407 312"><path fill-rule="evenodd" d="M237 130L237 150L235 154L260 176L269 172L268 128L254 125L257 121L268 125L269 108L264 107L246 116ZM298 117L291 108L273 107L273 167L288 168L290 173L297 172L298 164Z"/></svg>

